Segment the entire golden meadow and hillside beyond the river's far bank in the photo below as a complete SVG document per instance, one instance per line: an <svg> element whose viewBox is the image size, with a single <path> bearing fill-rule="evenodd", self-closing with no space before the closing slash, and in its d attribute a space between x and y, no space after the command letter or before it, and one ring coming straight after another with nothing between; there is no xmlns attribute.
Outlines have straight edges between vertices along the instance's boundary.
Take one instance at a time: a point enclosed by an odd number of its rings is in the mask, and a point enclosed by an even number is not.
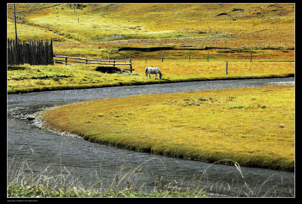
<svg viewBox="0 0 302 204"><path fill-rule="evenodd" d="M108 59L108 55L117 60L131 58L133 74L138 75L100 73L93 65L8 66L8 93L293 76L294 6L16 4L19 39L52 38L53 52L57 55L101 60ZM8 4L7 8L7 35L14 38L14 6ZM227 15L219 16L221 13ZM119 51L123 47L162 46L174 49ZM198 50L206 46L217 48ZM252 63L249 63L251 53ZM163 80L145 80L146 67L159 67Z"/></svg>

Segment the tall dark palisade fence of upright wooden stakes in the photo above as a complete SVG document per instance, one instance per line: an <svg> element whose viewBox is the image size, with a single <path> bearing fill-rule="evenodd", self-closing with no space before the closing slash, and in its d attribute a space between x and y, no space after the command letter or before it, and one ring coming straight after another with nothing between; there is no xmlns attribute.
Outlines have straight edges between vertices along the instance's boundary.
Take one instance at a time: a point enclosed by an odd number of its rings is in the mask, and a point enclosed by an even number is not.
<svg viewBox="0 0 302 204"><path fill-rule="evenodd" d="M7 63L30 65L53 65L53 41L7 39Z"/></svg>

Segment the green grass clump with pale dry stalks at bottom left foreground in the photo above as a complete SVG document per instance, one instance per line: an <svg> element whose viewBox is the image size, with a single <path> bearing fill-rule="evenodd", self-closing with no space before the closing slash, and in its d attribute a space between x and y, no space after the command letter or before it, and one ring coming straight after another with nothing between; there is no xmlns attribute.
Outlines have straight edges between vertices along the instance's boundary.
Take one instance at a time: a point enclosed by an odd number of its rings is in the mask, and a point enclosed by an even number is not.
<svg viewBox="0 0 302 204"><path fill-rule="evenodd" d="M22 148L22 147L21 147ZM20 148L20 149L21 149ZM33 154L34 150L27 152ZM107 187L102 185L103 180L96 180L92 184L84 185L76 176L76 172L68 170L66 167L61 171L49 171L50 164L41 172L32 170L30 165L31 156L23 157L21 163L14 163L14 160L20 159L14 156L8 166L8 197L208 197L209 195L200 187L177 187L165 184L158 176L158 184L154 185L154 190L150 192L143 191L135 183L137 177L141 177L142 165L153 160L152 158L143 162L140 166L128 171L125 169L125 163L121 166L117 174L112 173L113 181ZM128 173L123 173L128 171ZM97 170L95 170L97 172ZM101 175L99 175L101 176ZM127 181L127 185L123 185Z"/></svg>

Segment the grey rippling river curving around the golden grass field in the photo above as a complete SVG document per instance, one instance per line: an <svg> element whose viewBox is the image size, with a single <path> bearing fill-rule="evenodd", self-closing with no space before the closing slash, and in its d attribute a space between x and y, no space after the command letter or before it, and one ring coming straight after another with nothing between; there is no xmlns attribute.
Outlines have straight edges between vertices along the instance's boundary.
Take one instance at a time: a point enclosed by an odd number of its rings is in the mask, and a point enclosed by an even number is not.
<svg viewBox="0 0 302 204"><path fill-rule="evenodd" d="M26 120L36 112L55 105L93 99L283 84L294 85L294 77L9 94L8 182L18 177L16 170L22 169L22 176L25 177L60 175L60 182L64 181L70 186L105 191L110 184L115 185L117 175L118 181L121 180L118 185L120 190L127 187L127 182L130 185L134 182L133 187L148 192L159 188L157 184L160 175L161 182L170 183L171 186L198 186L208 192L228 196L294 197L294 172L248 167L240 167L240 172L234 165L212 165L197 160L92 143L79 137L68 137L40 129L34 125L34 120ZM131 173L135 168L137 170Z"/></svg>

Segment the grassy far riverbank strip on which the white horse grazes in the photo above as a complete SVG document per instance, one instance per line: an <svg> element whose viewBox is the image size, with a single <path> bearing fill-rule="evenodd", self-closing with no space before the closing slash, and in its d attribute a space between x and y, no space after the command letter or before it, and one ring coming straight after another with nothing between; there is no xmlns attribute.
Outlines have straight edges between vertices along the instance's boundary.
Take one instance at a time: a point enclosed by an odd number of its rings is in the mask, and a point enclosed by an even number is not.
<svg viewBox="0 0 302 204"><path fill-rule="evenodd" d="M8 66L7 93L88 89L112 86L178 83L206 80L264 79L294 77L294 62L229 62L228 74L225 62L208 63L185 61L135 62L135 71L129 73L117 67L88 65L36 65ZM134 65L133 65L134 66ZM160 67L161 80L146 79L145 68ZM279 67L283 67L279 69ZM109 70L109 71L108 71ZM118 71L120 70L120 71ZM196 72L198 70L198 72ZM278 70L278 71L277 71Z"/></svg>

